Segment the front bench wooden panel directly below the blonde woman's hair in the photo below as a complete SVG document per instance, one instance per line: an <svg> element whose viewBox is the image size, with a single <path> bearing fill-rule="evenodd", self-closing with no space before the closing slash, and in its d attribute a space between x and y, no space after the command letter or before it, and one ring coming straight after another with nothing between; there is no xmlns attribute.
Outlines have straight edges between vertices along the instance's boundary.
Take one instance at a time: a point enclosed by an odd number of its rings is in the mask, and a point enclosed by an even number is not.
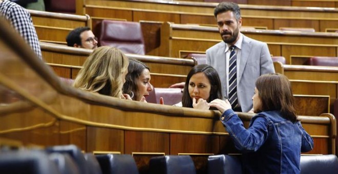
<svg viewBox="0 0 338 174"><path fill-rule="evenodd" d="M87 126L87 151L120 151L124 153L124 131Z"/></svg>

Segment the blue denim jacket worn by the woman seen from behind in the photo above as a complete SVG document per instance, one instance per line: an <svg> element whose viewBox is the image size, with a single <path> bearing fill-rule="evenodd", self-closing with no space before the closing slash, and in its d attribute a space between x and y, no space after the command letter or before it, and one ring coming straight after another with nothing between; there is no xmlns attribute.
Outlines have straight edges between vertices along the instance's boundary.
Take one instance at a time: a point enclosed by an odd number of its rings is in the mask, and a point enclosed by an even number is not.
<svg viewBox="0 0 338 174"><path fill-rule="evenodd" d="M313 148L302 124L286 120L278 111L257 114L248 129L231 109L223 113L221 121L243 153L243 173L300 173L301 152Z"/></svg>

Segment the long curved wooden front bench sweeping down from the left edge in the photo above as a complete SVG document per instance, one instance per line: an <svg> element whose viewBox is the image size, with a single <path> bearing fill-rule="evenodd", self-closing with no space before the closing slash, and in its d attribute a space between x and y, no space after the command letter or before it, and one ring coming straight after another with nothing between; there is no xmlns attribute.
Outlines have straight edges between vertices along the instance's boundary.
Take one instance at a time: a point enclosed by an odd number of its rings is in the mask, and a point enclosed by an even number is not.
<svg viewBox="0 0 338 174"><path fill-rule="evenodd" d="M0 24L0 96L7 96L0 107L0 138L25 146L75 144L87 152L132 154L140 172L158 155L192 155L197 170L205 172L208 155L238 153L219 121L221 113L72 88L3 19ZM239 113L246 126L252 116ZM314 140L307 154L335 154L336 121L331 114L299 119Z"/></svg>

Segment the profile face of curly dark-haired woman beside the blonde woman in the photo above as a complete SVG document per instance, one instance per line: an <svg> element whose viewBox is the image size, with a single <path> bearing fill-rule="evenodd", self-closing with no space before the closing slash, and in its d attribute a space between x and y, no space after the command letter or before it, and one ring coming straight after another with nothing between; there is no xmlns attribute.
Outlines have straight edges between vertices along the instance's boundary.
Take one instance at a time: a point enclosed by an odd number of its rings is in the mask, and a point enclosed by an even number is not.
<svg viewBox="0 0 338 174"><path fill-rule="evenodd" d="M144 69L141 75L137 79L138 94L136 95L137 101L140 101L143 96L148 96L149 92L153 91L153 86L150 84L150 72L148 69Z"/></svg>

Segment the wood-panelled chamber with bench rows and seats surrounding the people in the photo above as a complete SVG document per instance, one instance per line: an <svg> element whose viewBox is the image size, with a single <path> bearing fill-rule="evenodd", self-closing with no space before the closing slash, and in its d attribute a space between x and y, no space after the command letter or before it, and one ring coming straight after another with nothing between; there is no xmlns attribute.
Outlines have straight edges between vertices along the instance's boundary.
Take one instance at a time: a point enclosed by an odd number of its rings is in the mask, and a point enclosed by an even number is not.
<svg viewBox="0 0 338 174"><path fill-rule="evenodd" d="M0 173L240 173L222 113L172 106L191 69L222 41L220 0L45 0L28 10L43 61L0 22ZM338 169L338 0L230 0L240 32L265 42L288 77L313 149L301 173ZM81 91L71 84L91 49L66 37L89 27L98 46L120 48L151 70L148 103ZM112 34L118 33L117 35ZM163 97L164 104L160 104ZM237 113L248 127L254 113ZM13 168L13 169L12 169Z"/></svg>

